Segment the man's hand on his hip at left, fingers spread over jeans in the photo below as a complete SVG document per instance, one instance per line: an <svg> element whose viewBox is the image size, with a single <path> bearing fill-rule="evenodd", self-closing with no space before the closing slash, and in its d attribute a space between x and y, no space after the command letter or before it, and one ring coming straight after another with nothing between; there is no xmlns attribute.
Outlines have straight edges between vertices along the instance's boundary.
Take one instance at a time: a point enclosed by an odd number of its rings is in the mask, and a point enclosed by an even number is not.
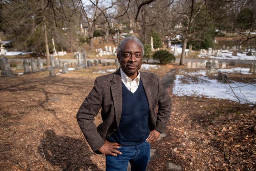
<svg viewBox="0 0 256 171"><path fill-rule="evenodd" d="M121 145L116 142L109 142L105 140L104 145L99 148L99 151L105 155L117 156L118 154L122 154L122 152L116 150L116 148L120 148L120 146Z"/></svg>

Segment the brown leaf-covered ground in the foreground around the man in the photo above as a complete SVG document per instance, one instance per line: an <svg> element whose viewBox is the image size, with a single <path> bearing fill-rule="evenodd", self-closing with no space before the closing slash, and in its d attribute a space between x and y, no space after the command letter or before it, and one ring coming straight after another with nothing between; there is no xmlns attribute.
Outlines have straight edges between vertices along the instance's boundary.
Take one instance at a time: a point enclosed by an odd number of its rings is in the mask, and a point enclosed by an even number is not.
<svg viewBox="0 0 256 171"><path fill-rule="evenodd" d="M105 170L104 155L89 148L76 122L76 112L93 87L99 70L74 70L49 77L48 72L0 77L0 170ZM151 69L160 78L177 65ZM56 70L57 71L57 70ZM20 72L15 70L15 72ZM171 95L171 87L167 88ZM175 97L167 136L152 145L157 151L149 170L255 170L253 127L235 102L204 97ZM243 105L255 124L256 109ZM95 123L101 122L100 115Z"/></svg>

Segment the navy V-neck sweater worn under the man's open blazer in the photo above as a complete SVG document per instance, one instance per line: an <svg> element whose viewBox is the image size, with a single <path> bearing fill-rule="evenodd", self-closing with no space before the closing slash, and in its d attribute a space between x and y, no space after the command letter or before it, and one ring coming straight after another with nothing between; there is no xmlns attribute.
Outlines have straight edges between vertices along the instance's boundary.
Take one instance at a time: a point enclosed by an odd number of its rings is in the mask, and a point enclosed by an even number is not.
<svg viewBox="0 0 256 171"><path fill-rule="evenodd" d="M136 146L149 136L149 103L140 81L132 93L122 82L122 116L118 129L109 137L110 142L123 146Z"/></svg>

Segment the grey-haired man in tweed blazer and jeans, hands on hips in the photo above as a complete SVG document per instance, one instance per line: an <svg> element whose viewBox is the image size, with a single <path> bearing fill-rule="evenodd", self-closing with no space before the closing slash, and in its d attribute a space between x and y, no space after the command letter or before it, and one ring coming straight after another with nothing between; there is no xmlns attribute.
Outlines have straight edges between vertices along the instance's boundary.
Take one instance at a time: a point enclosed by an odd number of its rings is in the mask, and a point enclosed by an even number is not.
<svg viewBox="0 0 256 171"><path fill-rule="evenodd" d="M117 52L121 67L96 78L77 120L92 150L106 155L107 171L126 171L128 162L132 171L145 171L150 144L169 120L171 99L155 74L139 71L144 47L136 37L122 40ZM96 127L100 108L103 122Z"/></svg>

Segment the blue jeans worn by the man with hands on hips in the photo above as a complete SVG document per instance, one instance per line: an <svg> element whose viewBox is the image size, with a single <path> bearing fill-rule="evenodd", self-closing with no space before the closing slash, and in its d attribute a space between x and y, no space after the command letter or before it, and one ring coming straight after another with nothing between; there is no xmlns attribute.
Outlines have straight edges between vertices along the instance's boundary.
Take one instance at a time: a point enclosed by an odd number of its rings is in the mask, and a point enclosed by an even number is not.
<svg viewBox="0 0 256 171"><path fill-rule="evenodd" d="M145 171L150 158L150 144L145 141L137 146L117 148L122 155L106 155L106 171L127 171L130 161L132 171Z"/></svg>

